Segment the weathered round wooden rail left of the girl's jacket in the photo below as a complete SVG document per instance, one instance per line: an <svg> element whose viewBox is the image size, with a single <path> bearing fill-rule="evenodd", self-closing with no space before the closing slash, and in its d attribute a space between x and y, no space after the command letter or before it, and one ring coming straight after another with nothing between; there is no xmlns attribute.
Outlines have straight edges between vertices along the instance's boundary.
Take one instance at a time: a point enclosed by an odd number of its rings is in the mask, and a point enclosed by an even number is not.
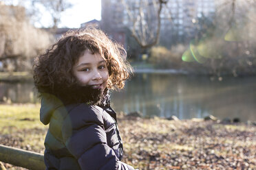
<svg viewBox="0 0 256 170"><path fill-rule="evenodd" d="M5 145L0 145L0 161L26 169L45 169L43 154Z"/></svg>

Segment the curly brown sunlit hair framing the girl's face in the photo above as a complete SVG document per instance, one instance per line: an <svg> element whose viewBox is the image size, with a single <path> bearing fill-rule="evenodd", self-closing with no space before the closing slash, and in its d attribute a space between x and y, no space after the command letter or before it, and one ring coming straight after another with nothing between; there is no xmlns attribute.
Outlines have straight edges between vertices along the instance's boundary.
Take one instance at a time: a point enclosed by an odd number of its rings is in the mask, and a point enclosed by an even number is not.
<svg viewBox="0 0 256 170"><path fill-rule="evenodd" d="M34 60L34 84L39 93L54 94L54 90L60 86L72 86L76 82L72 66L87 49L92 53L100 53L106 60L109 71L107 88L123 88L124 81L132 73L130 64L125 60L125 49L110 40L100 29L87 27L71 29Z"/></svg>

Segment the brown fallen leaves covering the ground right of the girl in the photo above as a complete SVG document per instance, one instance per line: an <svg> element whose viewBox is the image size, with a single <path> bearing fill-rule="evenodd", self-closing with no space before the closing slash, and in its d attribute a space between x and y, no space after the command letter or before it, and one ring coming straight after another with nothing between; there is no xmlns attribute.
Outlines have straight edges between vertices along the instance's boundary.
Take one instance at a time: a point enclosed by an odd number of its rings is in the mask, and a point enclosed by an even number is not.
<svg viewBox="0 0 256 170"><path fill-rule="evenodd" d="M138 169L255 169L256 128L245 123L119 120L124 162Z"/></svg>

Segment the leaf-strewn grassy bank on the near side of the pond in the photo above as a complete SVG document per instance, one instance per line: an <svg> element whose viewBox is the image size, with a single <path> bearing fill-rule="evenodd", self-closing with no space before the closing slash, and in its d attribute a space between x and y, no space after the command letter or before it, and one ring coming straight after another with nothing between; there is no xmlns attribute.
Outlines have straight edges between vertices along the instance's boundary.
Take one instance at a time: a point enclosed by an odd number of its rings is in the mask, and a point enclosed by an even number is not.
<svg viewBox="0 0 256 170"><path fill-rule="evenodd" d="M0 105L0 143L43 154L39 105ZM125 156L138 169L256 169L256 126L120 116ZM8 169L21 169L5 166Z"/></svg>

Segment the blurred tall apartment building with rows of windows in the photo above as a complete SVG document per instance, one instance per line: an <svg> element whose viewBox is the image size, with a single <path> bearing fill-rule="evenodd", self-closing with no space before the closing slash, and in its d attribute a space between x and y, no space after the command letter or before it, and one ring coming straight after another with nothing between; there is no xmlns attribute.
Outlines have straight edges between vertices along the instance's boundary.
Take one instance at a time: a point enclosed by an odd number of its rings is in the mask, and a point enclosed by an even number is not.
<svg viewBox="0 0 256 170"><path fill-rule="evenodd" d="M127 6L129 11L127 11ZM169 0L163 5L161 12L160 41L171 43L171 41L182 41L195 36L198 28L198 19L202 16L211 18L215 13L215 0ZM149 7L147 7L149 5ZM144 9L147 27L156 25L156 12L158 1L136 1L136 0L102 0L101 26L106 32L124 32L125 27L132 27L131 17L136 19L140 7ZM129 17L131 12L131 17ZM155 17L154 17L155 16ZM143 22L142 22L143 24ZM139 27L140 25L138 25ZM139 29L139 28L138 28ZM125 34L122 34L125 36Z"/></svg>

